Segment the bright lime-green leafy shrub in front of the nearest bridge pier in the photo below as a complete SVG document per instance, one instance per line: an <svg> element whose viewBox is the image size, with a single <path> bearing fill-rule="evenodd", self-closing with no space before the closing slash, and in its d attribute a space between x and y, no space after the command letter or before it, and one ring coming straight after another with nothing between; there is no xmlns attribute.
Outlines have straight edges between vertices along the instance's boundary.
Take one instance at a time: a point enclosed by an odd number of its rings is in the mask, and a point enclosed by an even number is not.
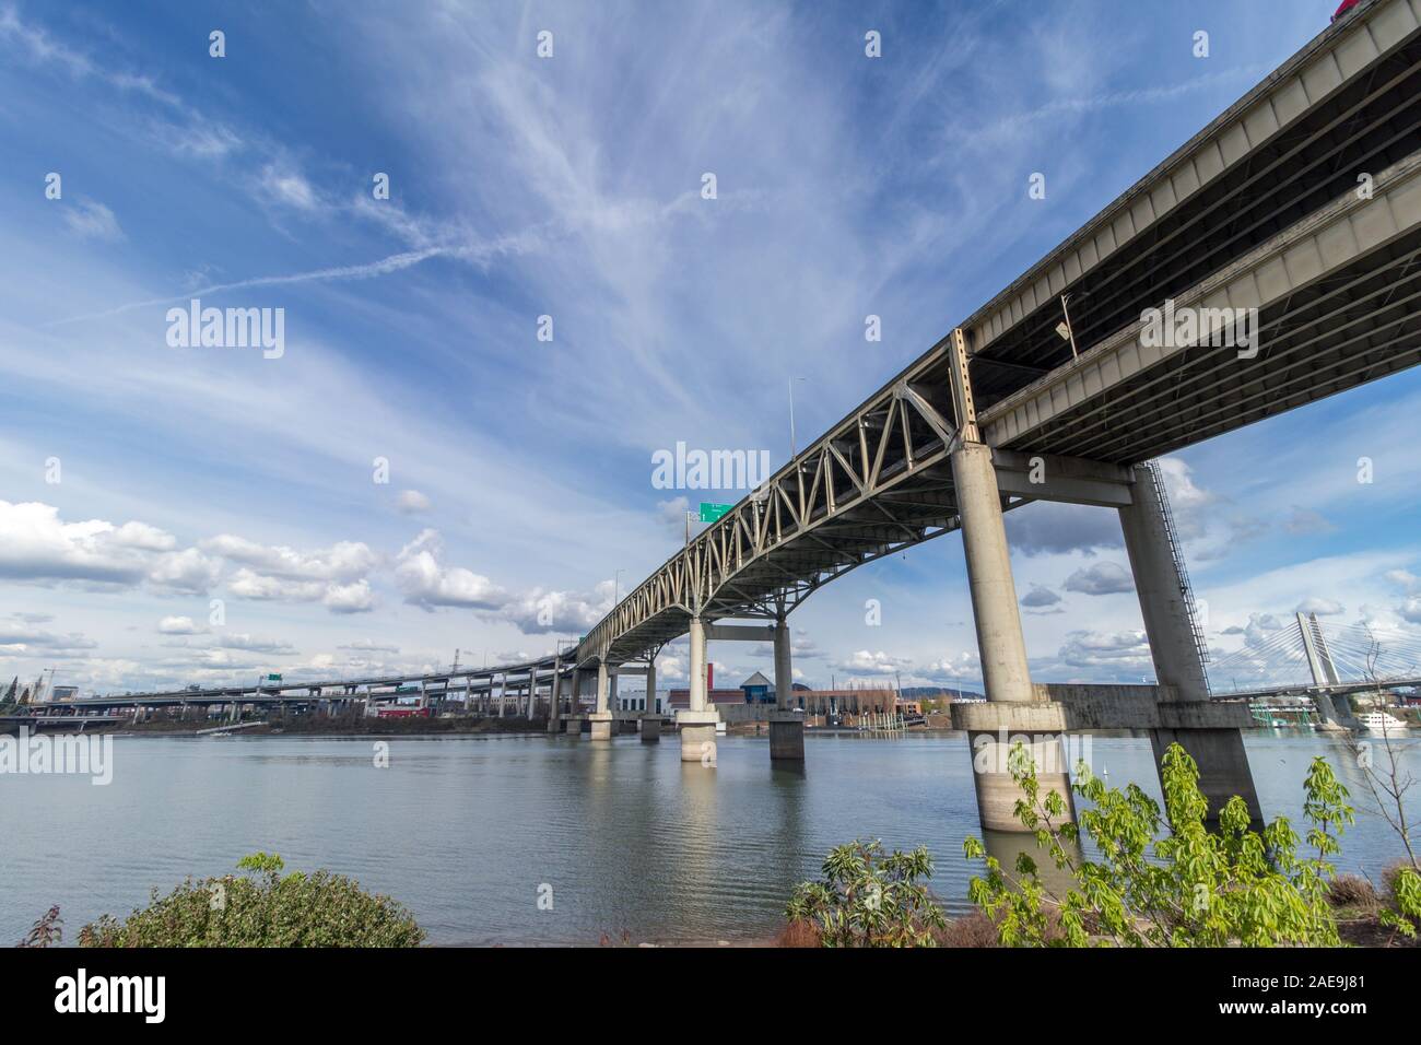
<svg viewBox="0 0 1421 1045"><path fill-rule="evenodd" d="M1208 803L1194 759L1175 744L1161 765L1162 813L1137 785L1124 792L1106 788L1079 765L1071 786L1094 808L1076 825L1067 820L1060 795L1040 796L1030 754L1020 744L1012 749L1009 769L1022 788L1016 816L1073 884L1064 896L1050 893L1027 853L1007 874L969 837L966 856L983 860L986 874L972 879L968 894L996 926L1000 941L1027 947L1337 945L1327 859L1340 852L1337 839L1353 822L1353 809L1331 766L1313 759L1304 782L1303 815L1312 823L1306 842L1316 856L1303 857L1286 818L1255 833L1236 796L1219 810L1218 830L1208 830ZM1083 829L1098 860L1080 856ZM1050 931L1057 921L1059 936Z"/></svg>

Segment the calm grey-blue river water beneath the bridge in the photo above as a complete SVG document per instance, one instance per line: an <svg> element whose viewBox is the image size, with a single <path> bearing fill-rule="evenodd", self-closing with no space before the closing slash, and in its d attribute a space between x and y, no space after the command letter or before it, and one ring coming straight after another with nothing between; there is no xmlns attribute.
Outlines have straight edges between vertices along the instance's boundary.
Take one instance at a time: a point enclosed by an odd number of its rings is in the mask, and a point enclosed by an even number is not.
<svg viewBox="0 0 1421 1045"><path fill-rule="evenodd" d="M720 738L719 765L679 761L675 736L114 738L114 779L0 775L0 944L60 904L65 943L101 913L124 916L185 876L223 874L244 853L328 867L408 904L435 944L763 941L793 883L834 845L926 845L934 891L965 906L978 832L962 734L806 738L803 772L769 745ZM1327 755L1353 788L1357 825L1341 870L1374 880L1401 854L1367 812L1349 749L1310 734L1246 741L1263 812L1300 823L1302 781ZM1091 738L1111 785L1158 798L1150 742ZM1405 742L1421 776L1421 744ZM1302 829L1299 829L1302 833ZM540 907L540 893L551 910Z"/></svg>

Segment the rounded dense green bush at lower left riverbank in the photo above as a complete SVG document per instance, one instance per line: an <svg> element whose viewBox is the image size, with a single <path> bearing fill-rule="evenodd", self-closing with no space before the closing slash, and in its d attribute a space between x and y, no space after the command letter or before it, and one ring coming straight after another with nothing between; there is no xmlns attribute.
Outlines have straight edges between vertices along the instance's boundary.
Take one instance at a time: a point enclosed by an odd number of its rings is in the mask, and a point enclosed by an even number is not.
<svg viewBox="0 0 1421 1045"><path fill-rule="evenodd" d="M281 857L253 853L227 874L188 879L126 921L105 914L80 931L81 947L418 947L414 916L342 874L281 876Z"/></svg>

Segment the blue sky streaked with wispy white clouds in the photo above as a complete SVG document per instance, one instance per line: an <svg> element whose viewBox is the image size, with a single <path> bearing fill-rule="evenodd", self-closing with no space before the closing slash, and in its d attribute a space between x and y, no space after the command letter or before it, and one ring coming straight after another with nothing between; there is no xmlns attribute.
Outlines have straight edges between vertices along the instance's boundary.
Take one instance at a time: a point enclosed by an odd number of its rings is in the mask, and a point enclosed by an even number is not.
<svg viewBox="0 0 1421 1045"><path fill-rule="evenodd" d="M679 498L735 496L657 489L652 454L777 466L791 378L804 445L1334 6L0 0L0 675L330 677L585 631L681 543ZM284 354L169 347L190 297L283 309ZM1165 463L1211 645L1304 603L1421 624L1418 408L1405 374ZM1010 527L1037 678L1151 677L1114 515ZM956 536L793 624L811 684L976 677Z"/></svg>

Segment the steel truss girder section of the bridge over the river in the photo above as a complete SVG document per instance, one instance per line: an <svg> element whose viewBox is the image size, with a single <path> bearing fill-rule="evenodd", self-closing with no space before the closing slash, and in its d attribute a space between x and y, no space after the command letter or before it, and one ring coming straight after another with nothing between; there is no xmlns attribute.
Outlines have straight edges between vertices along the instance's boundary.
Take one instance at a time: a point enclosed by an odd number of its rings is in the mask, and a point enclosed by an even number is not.
<svg viewBox="0 0 1421 1045"><path fill-rule="evenodd" d="M953 529L945 344L669 559L593 628L578 660L638 658L696 613L774 618L834 577Z"/></svg>

